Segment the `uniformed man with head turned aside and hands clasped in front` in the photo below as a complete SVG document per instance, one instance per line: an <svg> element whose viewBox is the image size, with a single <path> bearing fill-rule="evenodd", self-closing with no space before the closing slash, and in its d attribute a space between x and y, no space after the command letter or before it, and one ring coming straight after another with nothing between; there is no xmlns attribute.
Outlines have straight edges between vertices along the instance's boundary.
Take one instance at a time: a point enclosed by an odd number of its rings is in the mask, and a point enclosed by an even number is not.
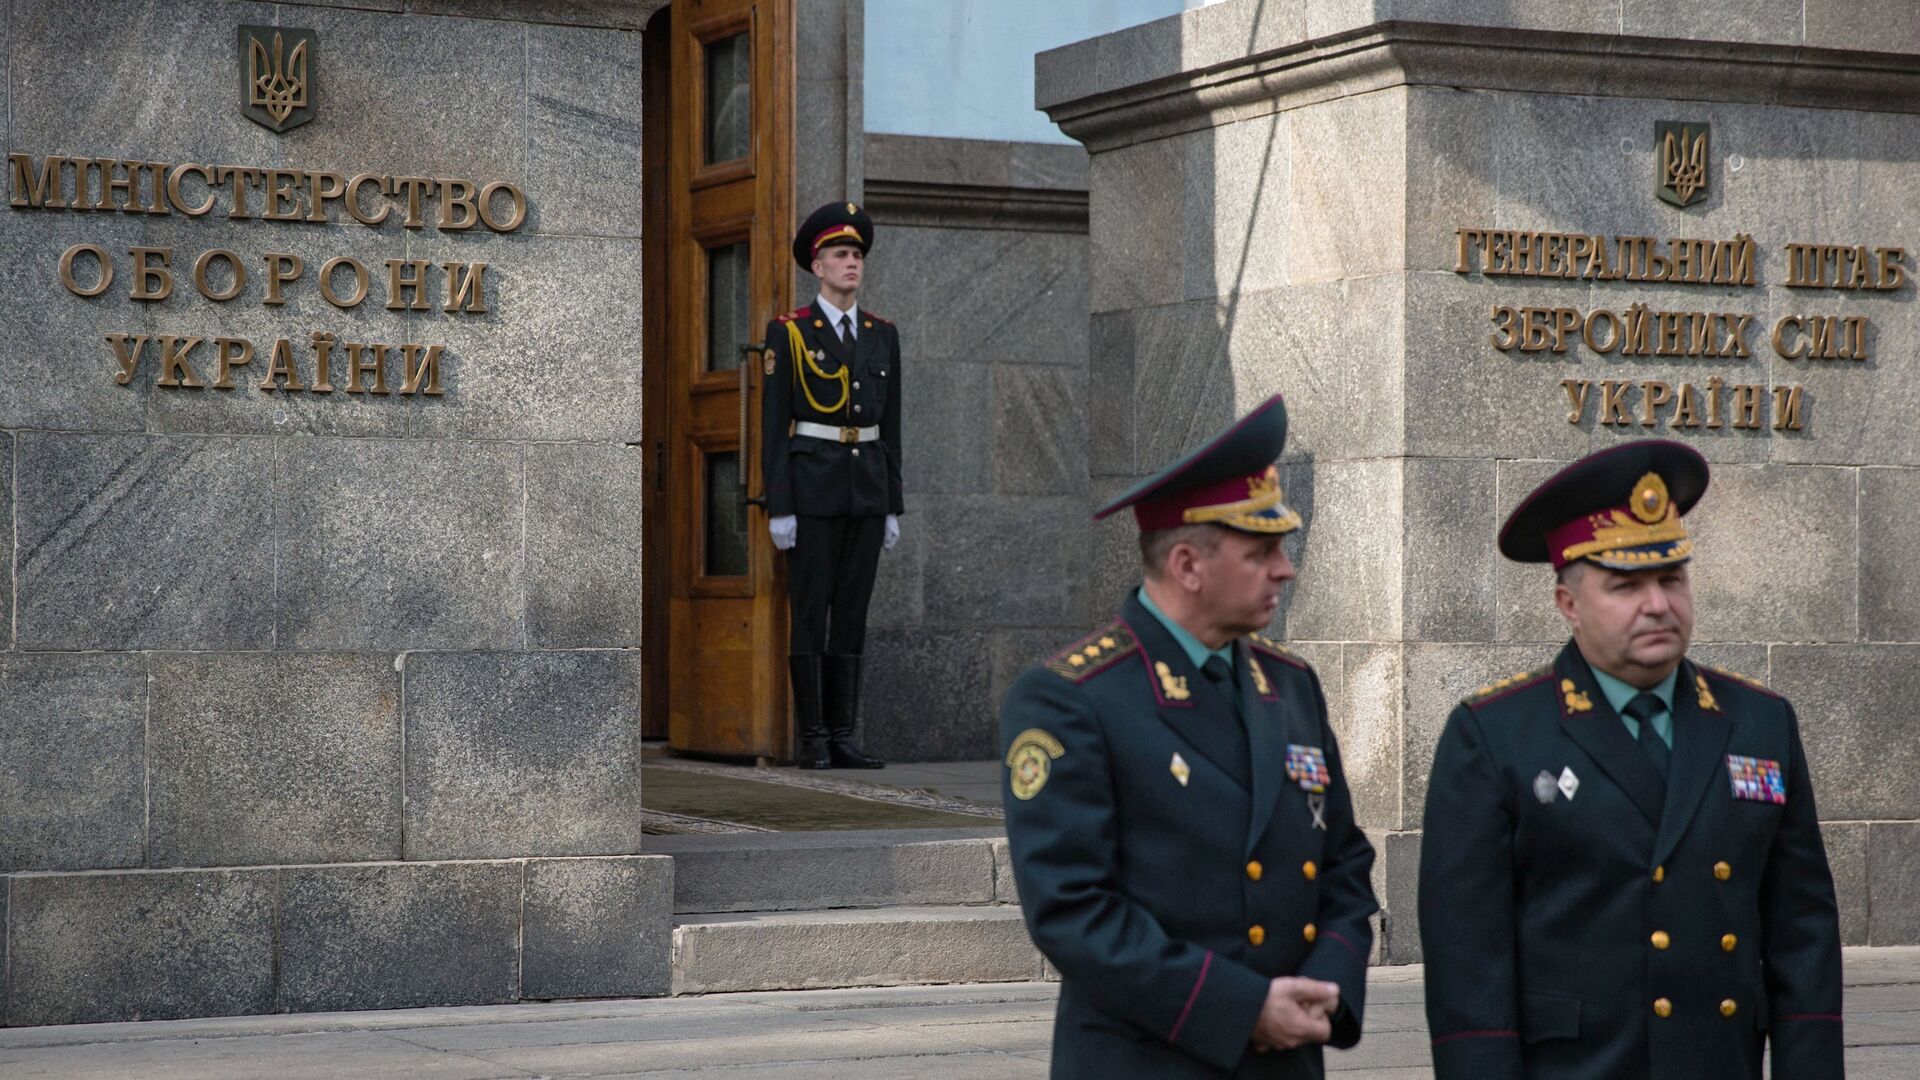
<svg viewBox="0 0 1920 1080"><path fill-rule="evenodd" d="M1275 396L1100 509L1133 507L1144 586L1000 707L1054 1080L1319 1078L1359 1042L1373 846L1319 678L1254 634L1294 577L1284 440Z"/></svg>

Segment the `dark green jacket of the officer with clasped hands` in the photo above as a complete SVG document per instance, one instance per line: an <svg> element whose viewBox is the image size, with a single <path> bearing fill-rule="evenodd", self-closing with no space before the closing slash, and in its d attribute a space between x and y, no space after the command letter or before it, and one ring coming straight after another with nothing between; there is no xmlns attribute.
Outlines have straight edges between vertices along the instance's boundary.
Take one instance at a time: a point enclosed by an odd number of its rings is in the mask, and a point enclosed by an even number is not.
<svg viewBox="0 0 1920 1080"><path fill-rule="evenodd" d="M1235 655L1244 724L1129 598L1000 707L1014 878L1062 974L1056 1080L1319 1078L1319 1045L1250 1045L1283 974L1340 984L1332 1043L1359 1042L1373 847L1327 701L1279 646Z"/></svg>

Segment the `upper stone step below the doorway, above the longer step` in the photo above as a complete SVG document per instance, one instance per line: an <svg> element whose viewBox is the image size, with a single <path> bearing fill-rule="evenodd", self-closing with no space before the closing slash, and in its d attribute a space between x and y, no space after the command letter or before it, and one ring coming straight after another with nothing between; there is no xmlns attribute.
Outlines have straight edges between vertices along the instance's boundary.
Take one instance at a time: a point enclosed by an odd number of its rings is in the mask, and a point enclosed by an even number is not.
<svg viewBox="0 0 1920 1080"><path fill-rule="evenodd" d="M1018 903L1000 828L647 838L674 857L674 915Z"/></svg>

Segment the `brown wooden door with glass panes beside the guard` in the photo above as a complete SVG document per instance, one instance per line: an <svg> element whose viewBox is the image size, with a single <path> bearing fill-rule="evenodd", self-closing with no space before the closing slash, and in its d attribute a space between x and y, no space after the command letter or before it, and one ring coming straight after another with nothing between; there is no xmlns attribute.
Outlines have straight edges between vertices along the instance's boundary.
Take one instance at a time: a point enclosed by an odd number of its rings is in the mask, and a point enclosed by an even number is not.
<svg viewBox="0 0 1920 1080"><path fill-rule="evenodd" d="M649 363L666 367L666 505L649 538L666 548L666 736L785 759L785 582L749 503L762 356L743 346L791 306L793 0L674 0L664 15L664 327Z"/></svg>

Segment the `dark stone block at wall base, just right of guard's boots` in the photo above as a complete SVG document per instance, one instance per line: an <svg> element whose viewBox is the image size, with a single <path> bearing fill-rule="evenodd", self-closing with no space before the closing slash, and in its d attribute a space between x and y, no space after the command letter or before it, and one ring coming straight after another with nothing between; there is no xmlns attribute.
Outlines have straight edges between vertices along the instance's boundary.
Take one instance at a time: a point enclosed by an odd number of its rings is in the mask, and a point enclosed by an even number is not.
<svg viewBox="0 0 1920 1080"><path fill-rule="evenodd" d="M868 632L860 746L887 761L996 757L981 630Z"/></svg>

